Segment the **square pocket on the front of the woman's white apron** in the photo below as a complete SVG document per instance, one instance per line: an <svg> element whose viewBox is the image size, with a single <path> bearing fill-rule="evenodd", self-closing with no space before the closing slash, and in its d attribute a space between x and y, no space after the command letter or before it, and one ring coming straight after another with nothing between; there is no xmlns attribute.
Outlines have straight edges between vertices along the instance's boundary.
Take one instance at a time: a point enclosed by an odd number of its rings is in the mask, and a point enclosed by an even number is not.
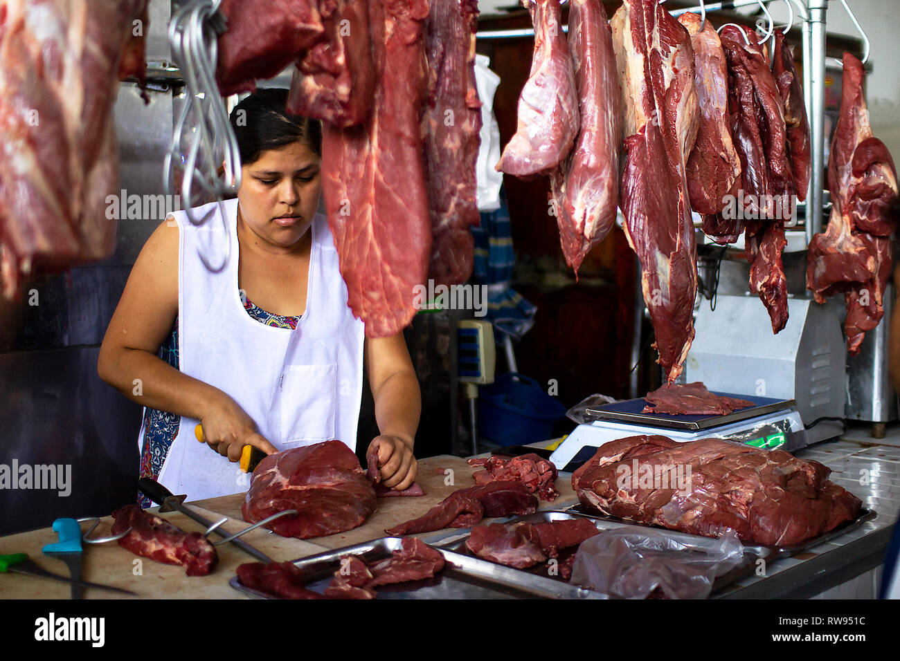
<svg viewBox="0 0 900 661"><path fill-rule="evenodd" d="M295 447L334 439L337 362L288 365L278 394L281 401L281 441L284 444Z"/></svg>

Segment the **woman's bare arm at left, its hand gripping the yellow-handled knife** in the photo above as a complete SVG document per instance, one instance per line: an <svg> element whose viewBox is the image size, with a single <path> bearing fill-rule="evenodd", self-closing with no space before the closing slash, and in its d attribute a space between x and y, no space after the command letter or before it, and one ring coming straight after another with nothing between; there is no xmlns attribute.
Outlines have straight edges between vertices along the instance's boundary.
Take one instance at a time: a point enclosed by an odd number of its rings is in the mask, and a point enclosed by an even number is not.
<svg viewBox="0 0 900 661"><path fill-rule="evenodd" d="M141 249L106 329L100 378L141 406L200 420L206 442L229 460L245 444L274 452L231 397L157 356L177 316L178 227L164 221Z"/></svg>

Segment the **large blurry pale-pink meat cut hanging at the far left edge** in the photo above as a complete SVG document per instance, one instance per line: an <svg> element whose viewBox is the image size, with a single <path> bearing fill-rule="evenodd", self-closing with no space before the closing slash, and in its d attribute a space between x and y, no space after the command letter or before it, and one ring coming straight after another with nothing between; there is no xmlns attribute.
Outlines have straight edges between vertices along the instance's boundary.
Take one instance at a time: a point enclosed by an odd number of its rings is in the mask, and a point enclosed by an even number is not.
<svg viewBox="0 0 900 661"><path fill-rule="evenodd" d="M119 192L120 76L142 76L145 0L0 0L0 288L102 259ZM128 54L124 58L123 54Z"/></svg>

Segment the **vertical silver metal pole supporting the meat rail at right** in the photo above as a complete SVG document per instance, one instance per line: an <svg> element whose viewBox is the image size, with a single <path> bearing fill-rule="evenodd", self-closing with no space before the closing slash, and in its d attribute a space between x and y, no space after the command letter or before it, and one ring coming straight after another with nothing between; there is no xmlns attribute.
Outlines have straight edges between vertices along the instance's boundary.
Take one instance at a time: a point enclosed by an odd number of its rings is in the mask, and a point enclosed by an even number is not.
<svg viewBox="0 0 900 661"><path fill-rule="evenodd" d="M813 139L813 175L810 178L810 194L806 198L806 241L812 241L816 232L822 231L822 206L824 199L825 167L825 12L828 0L807 0L809 10L809 62L810 94L808 114Z"/></svg>

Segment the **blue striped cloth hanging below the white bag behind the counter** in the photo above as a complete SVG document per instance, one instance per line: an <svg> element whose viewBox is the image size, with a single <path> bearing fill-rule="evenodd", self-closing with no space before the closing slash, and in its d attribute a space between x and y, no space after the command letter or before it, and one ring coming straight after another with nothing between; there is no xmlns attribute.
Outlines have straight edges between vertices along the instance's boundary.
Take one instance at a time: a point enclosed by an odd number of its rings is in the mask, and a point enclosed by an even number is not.
<svg viewBox="0 0 900 661"><path fill-rule="evenodd" d="M488 310L485 318L494 325L497 344L505 336L522 339L535 324L537 308L510 287L516 255L512 249L509 207L500 191L500 209L482 213L482 227L472 228L475 239L473 281L488 286Z"/></svg>

